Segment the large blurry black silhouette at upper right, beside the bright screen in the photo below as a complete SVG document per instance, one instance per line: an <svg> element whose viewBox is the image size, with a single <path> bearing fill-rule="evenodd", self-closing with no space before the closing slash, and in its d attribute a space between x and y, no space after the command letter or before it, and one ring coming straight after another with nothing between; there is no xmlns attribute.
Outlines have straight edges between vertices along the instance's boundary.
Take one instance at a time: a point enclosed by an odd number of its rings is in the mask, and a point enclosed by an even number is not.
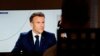
<svg viewBox="0 0 100 56"><path fill-rule="evenodd" d="M87 28L89 27L89 3L88 0L63 0L62 3L62 27L63 28Z"/></svg>

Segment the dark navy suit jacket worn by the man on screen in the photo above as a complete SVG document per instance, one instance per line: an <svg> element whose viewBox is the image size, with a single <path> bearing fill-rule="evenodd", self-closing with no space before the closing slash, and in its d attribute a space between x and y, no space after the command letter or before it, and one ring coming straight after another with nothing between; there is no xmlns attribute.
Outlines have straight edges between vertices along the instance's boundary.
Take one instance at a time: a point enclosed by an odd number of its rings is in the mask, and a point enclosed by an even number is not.
<svg viewBox="0 0 100 56"><path fill-rule="evenodd" d="M42 33L41 42L40 42L40 52L35 52L34 49L34 40L32 37L32 30L26 33L21 33L14 49L12 50L12 55L14 54L43 54L46 49L56 44L55 35L44 31ZM14 55L15 56L15 55Z"/></svg>

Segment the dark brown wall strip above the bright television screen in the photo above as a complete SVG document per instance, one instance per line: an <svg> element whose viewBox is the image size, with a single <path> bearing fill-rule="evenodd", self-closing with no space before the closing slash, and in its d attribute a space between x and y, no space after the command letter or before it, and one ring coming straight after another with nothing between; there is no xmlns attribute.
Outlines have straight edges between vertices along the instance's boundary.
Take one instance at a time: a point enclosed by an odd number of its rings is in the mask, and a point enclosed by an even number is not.
<svg viewBox="0 0 100 56"><path fill-rule="evenodd" d="M0 0L0 10L60 9L62 0Z"/></svg>

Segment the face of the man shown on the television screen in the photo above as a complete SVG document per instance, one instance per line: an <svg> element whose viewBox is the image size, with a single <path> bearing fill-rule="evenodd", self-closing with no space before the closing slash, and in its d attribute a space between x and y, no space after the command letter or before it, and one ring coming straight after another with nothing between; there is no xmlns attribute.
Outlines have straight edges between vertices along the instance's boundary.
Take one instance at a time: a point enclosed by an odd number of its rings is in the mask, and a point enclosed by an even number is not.
<svg viewBox="0 0 100 56"><path fill-rule="evenodd" d="M44 31L45 26L45 18L40 16L35 16L33 21L31 22L31 26L33 31L36 34L41 34Z"/></svg>

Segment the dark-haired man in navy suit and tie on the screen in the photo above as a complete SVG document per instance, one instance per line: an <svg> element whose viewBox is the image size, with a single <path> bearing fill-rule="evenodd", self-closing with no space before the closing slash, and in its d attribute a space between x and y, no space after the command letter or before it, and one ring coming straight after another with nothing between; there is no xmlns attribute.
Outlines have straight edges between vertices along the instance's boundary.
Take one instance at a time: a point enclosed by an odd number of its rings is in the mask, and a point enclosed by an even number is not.
<svg viewBox="0 0 100 56"><path fill-rule="evenodd" d="M30 18L32 30L22 32L17 40L11 55L42 56L50 47L56 44L54 33L44 30L45 15L42 12L33 13Z"/></svg>

